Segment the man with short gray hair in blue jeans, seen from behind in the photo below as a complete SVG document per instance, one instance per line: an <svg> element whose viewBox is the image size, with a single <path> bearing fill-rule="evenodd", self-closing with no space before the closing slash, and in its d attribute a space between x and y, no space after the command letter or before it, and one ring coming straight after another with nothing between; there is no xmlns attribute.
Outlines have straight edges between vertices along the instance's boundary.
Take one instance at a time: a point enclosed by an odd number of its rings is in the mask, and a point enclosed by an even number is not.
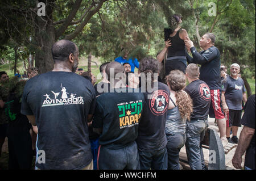
<svg viewBox="0 0 256 181"><path fill-rule="evenodd" d="M199 80L199 67L189 64L186 76L189 85L186 91L193 100L193 112L191 120L186 122L185 142L188 163L192 170L205 170L204 154L201 142L204 140L208 127L208 112L210 108L210 89L204 81Z"/></svg>

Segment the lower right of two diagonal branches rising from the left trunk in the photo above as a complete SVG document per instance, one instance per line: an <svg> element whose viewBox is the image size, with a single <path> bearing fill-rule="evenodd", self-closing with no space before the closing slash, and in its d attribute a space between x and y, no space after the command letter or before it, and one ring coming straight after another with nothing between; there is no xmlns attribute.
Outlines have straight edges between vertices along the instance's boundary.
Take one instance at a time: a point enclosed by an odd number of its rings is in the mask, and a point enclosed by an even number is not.
<svg viewBox="0 0 256 181"><path fill-rule="evenodd" d="M85 27L85 25L89 22L90 18L92 18L92 16L94 14L96 14L96 12L98 12L98 10L100 10L101 6L103 5L103 3L105 1L108 0L101 0L98 5L93 9L93 10L89 10L88 14L85 16L84 21L80 24L79 27L76 28L75 31L73 31L72 33L70 33L69 35L66 35L64 39L66 40L72 40L73 38L75 38L81 31L82 29Z"/></svg>

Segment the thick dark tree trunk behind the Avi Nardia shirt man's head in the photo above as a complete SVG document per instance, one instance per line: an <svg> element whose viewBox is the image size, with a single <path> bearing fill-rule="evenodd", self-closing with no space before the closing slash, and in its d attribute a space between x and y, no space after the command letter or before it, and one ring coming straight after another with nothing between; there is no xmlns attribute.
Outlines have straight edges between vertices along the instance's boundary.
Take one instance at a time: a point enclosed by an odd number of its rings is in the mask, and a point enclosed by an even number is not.
<svg viewBox="0 0 256 181"><path fill-rule="evenodd" d="M46 73L53 69L53 58L51 48L55 43L55 30L52 21L53 1L46 3L46 16L37 16L36 21L36 40L38 41L39 49L36 52L35 67L38 68L38 73Z"/></svg>

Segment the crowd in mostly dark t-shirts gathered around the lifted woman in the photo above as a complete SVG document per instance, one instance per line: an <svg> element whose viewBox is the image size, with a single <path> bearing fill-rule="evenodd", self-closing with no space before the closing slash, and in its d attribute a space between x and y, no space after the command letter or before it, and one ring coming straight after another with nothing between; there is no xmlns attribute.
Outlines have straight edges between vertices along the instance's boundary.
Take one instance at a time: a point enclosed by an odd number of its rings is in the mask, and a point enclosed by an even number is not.
<svg viewBox="0 0 256 181"><path fill-rule="evenodd" d="M255 95L247 101L240 66L232 64L221 82L213 33L201 37L203 51L197 52L180 27L181 16L168 22L165 47L156 59L145 57L138 63L127 60L123 51L100 66L102 81L97 84L90 71L75 73L75 43L60 40L53 45L53 70L26 82L20 108L38 135L36 149L45 153L37 155L36 169L179 170L179 151L185 145L191 169L204 170L201 142L208 115L217 119L223 146L238 143L233 165L241 168L247 149L245 166L255 169ZM164 74L158 77L160 65ZM238 141L241 124L245 127Z"/></svg>

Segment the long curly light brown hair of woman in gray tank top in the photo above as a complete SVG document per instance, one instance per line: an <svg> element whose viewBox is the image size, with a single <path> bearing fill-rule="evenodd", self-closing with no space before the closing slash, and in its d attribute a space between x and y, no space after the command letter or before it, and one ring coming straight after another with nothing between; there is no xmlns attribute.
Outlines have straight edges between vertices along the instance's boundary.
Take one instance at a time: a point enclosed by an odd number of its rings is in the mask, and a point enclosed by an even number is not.
<svg viewBox="0 0 256 181"><path fill-rule="evenodd" d="M186 85L185 74L180 70L172 70L167 75L166 81L171 90L175 91L176 103L179 107L181 118L190 120L190 115L193 112L193 102L187 92L183 91Z"/></svg>

